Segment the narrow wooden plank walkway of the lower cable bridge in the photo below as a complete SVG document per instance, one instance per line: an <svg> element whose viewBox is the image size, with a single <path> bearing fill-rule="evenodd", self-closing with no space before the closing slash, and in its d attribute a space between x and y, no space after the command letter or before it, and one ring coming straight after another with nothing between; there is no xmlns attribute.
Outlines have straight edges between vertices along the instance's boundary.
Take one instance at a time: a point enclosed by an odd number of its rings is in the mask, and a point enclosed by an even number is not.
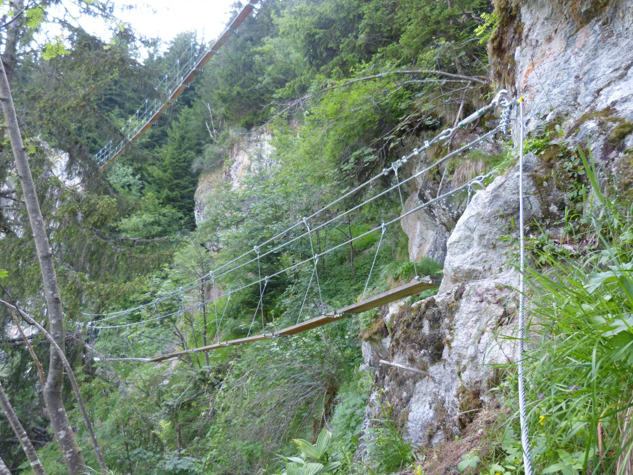
<svg viewBox="0 0 633 475"><path fill-rule="evenodd" d="M329 312L328 314L321 315L320 317L315 317L310 320L305 320L304 322L298 323L291 327L282 328L273 333L262 333L258 335L247 336L246 338L230 339L228 341L221 341L220 343L213 343L213 345L200 346L199 348L189 348L189 350L167 353L165 355L147 358L147 362L165 361L179 356L189 355L191 353L211 352L213 350L218 350L219 348L225 348L225 346L244 345L244 343L252 343L253 341L261 341L268 338L296 335L298 333L303 333L304 331L308 331L316 327L336 322L337 320L349 317L349 315L360 314L361 312L365 312L365 310L370 310L370 308L380 307L381 305L385 305L385 303L401 300L405 297L415 295L427 289L436 288L437 286L439 286L441 281L442 277L438 276L426 276L421 277L420 279L413 279L413 281L409 282L408 284L404 284L396 287L395 289L387 290L386 292L380 293L379 295L366 298L365 300L353 303L352 305L348 305L348 307L343 307L339 310L336 310L335 312Z"/></svg>

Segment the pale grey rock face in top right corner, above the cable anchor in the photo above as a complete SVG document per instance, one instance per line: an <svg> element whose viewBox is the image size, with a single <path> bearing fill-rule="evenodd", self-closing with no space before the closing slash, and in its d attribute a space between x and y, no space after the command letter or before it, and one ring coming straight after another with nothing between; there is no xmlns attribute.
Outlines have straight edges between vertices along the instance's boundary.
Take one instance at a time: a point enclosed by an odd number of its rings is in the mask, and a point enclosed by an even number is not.
<svg viewBox="0 0 633 475"><path fill-rule="evenodd" d="M514 53L527 124L565 118L573 132L587 112L633 118L633 2L536 0L522 3Z"/></svg>

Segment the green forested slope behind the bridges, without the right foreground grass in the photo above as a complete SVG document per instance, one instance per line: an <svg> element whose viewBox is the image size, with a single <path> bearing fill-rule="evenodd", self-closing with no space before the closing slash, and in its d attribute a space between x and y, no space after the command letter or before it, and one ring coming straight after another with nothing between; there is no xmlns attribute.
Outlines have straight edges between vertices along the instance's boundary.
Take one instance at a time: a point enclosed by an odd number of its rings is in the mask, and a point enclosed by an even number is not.
<svg viewBox="0 0 633 475"><path fill-rule="evenodd" d="M179 35L165 53L145 42L150 55L142 64L137 61L140 44L125 28L106 43L73 30L43 54L23 54L16 69L16 104L25 109L29 133L47 141L27 141L27 147L38 193L46 197L42 212L51 226L69 324L84 311L136 307L208 275L384 168L403 148L410 149L411 137L416 141L436 132L443 121L452 122L457 107L444 106L436 95L448 87L460 98L461 91L446 80L398 71L485 72L486 52L473 41L472 29L490 6L477 0L463 0L460 6L470 14L464 16L455 4L446 8L412 0L263 2L222 54L106 174L95 172L92 154L121 138L120 127L144 98L153 97L155 79L196 41L194 35ZM42 21L38 11L27 12L31 28ZM29 44L28 37L23 43ZM427 79L431 82L421 82ZM468 95L463 113L474 107L470 101ZM263 123L261 131L273 136L273 163L254 160L253 173L234 189L223 182L227 157L242 139L251 138L244 137L247 130L259 131ZM51 173L51 147L68 153L66 176L80 180L81 191ZM472 162L480 158L470 157ZM5 162L3 180L11 172ZM211 174L216 183L205 203L206 220L195 229L196 174L201 173ZM374 182L372 193L390 186L389 179ZM351 196L320 219L363 198ZM262 258L261 269L251 263L217 286L205 282L187 296L165 298L107 321L137 322L172 312L171 317L70 341L83 339L108 356L144 357L200 346L214 337L244 336L251 325L272 331L294 324L322 314L321 299L327 310L341 308L363 294L380 231L352 246L346 241L400 212L398 196L389 194L351 213L347 222L313 232L313 243L297 239ZM26 229L25 213L17 214L11 225ZM0 224L4 229L4 221ZM287 237L303 231L294 229ZM32 308L42 308L41 274L28 234L8 234L0 241L0 267L11 269L3 284ZM255 324L258 289L203 303L248 283L260 270L270 275L310 257L311 244L319 251L336 248L318 262L321 293L314 284L307 291L313 270L308 263L269 282ZM407 247L397 225L385 233L368 294L413 277ZM441 271L426 259L415 266L421 276ZM182 307L191 309L179 312ZM216 326L222 315L222 326ZM85 349L70 341L68 353L82 373L82 393L106 462L117 473L270 472L275 453L293 453L296 447L302 454L288 460L288 474L343 472L354 466L372 384L371 375L357 371L362 362L357 337L378 316L365 314L297 338L222 348L165 365L91 363L82 358ZM8 351L11 364L3 371L20 401L21 418L30 428L46 426L27 353ZM45 346L37 343L36 351L46 365ZM68 409L87 462L95 466L80 415L72 404ZM332 428L331 436L324 426ZM373 470L397 470L411 460L411 447L394 422L377 422L375 436ZM50 475L65 473L56 445L39 452Z"/></svg>

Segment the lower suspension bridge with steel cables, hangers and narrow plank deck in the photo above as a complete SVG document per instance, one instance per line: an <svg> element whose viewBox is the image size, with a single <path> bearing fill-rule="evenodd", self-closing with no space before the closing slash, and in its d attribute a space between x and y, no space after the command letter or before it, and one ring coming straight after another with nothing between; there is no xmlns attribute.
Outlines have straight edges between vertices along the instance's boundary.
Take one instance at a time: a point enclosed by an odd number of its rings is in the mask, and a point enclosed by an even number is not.
<svg viewBox="0 0 633 475"><path fill-rule="evenodd" d="M336 200L327 203L327 205L325 206L322 206L310 216L299 219L297 222L294 222L294 224L286 227L283 231L280 231L272 238L266 239L265 241L258 244L257 246L254 246L251 249L245 250L243 253L241 253L241 255L238 255L237 257L231 259L229 262L216 267L216 269L210 270L208 273L204 274L203 277L188 282L187 284L184 284L179 288L175 288L172 291L169 291L165 295L154 298L136 307L101 314L85 313L84 318L87 318L89 320L87 322L76 322L77 327L87 329L88 331L91 331L95 334L98 334L101 331L138 327L150 322L158 322L163 319L168 319L170 317L175 317L176 319L179 319L179 317L184 315L185 312L195 312L196 310L199 310L202 305L208 305L212 303L217 307L218 303L223 301L223 312L215 312L216 332L212 343L208 345L196 346L194 348L187 348L186 345L181 345L185 346L185 348L182 348L182 350L161 353L159 355L154 355L151 357L106 358L108 360L161 362L173 358L182 357L184 355L190 355L191 353L211 352L213 350L218 350L227 346L243 345L245 343L251 343L270 338L279 338L282 336L292 336L295 334L303 333L304 331L308 331L310 329L314 329L316 327L323 326L325 324L336 322L340 319L343 319L344 317L348 317L349 315L359 314L361 312L365 312L366 310L385 305L386 303L402 300L403 298L416 295L427 289L437 288L437 286L439 286L441 282L441 277L419 276L417 265L413 263L415 278L412 281L398 286L397 288L379 293L379 295L367 295L368 289L370 288L370 279L372 277L372 272L375 269L375 264L380 253L380 248L383 243L385 232L392 225L400 224L401 220L406 219L414 213L420 212L424 208L429 208L429 206L432 205L442 206L443 203L446 203L446 200L449 200L456 194L467 194L468 201L470 201L470 196L477 190L485 187L486 183L491 180L491 178L494 177L495 174L498 173L498 170L489 170L485 175L474 177L473 179L467 181L465 184L446 191L446 193L441 194L441 190L439 190L436 198L425 201L424 203L421 203L420 205L417 205L410 210L406 210L406 207L404 205L403 187L416 178L422 177L428 172L438 168L442 163L447 162L451 158L462 155L463 153L477 146L477 144L484 143L486 140L492 139L494 136L500 134L508 134L510 132L511 111L513 110L516 103L517 100L510 99L506 91L499 92L499 94L497 94L494 99L492 99L491 103L475 111L475 113L468 116L467 118L464 118L463 120L455 124L454 127L442 130L441 133L437 134L431 140L425 141L423 145L419 148L413 149L410 154L405 155L399 160L396 160L396 162L391 163L391 167L384 168L382 171L380 171L378 174L374 175L367 181L363 182L357 187L354 187L354 189L349 190L347 193L339 196L339 198L337 198ZM422 168L422 170L418 170L417 172L411 174L409 177L401 177L403 166L412 158L419 156L421 153L423 153L423 151L431 148L432 146L436 146L437 144L449 143L449 141L455 136L458 130L465 129L468 125L473 124L473 122L476 122L481 117L489 115L493 112L496 112L499 116L499 124L494 127L494 129L489 130L489 132L480 135L476 139L473 139L466 144L463 144L454 151L446 153L446 155L442 156L439 160L436 160L434 163ZM391 177L392 184L385 189L379 190L377 183L379 181L384 181L388 177ZM323 229L332 229L332 227L334 227L335 225L341 224L343 219L348 218L350 213L362 212L365 206L370 205L370 203L374 203L380 198L388 196L390 193L397 193L396 197L399 199L399 203L401 205L401 213L398 216L377 224L375 225L375 227L372 227L372 229L365 231L358 236L351 236L346 241L336 243L323 251L317 252L315 250L313 239L315 238L316 232ZM361 201L361 203L346 208L341 212L337 212L334 217L327 217L327 211L330 211L331 213L337 205L342 205L347 198L353 198L354 196L358 195L368 196L368 198L365 198L365 200ZM333 253L336 250L340 250L343 246L353 244L355 241L363 239L370 234L378 235L379 241L376 246L373 263L371 269L368 272L367 280L365 282L365 288L363 290L363 294L360 297L360 301L351 303L342 308L327 309L328 306L325 305L322 298L321 284L318 276L318 263L326 255ZM307 243L309 243L309 248L311 251L310 257L293 263L292 265L289 265L284 269L280 269L272 274L262 275L261 260L263 258L269 256L278 256L284 250L288 250L291 244L296 244L301 240L307 241ZM229 288L224 291L219 290L220 288L224 288L227 285L227 277L232 275L235 276L235 274L239 272L241 272L242 276L244 276L245 274L248 274L248 272L245 272L246 269L255 265L257 269L257 276L252 281L237 288ZM308 268L311 267L311 277L306 288L305 296L303 298L303 304L301 305L301 310L299 310L296 323L292 326L278 329L276 327L276 322L273 319L273 327L271 328L270 324L266 326L263 315L263 305L266 288L269 286L270 282L273 281L273 279L279 278L280 276L288 275L288 273L292 270L296 270L300 267L306 266ZM125 321L126 317L129 317L132 314L138 315L141 311L145 311L145 313L147 313L156 310L156 308L158 308L158 305L164 301L184 302L187 299L187 295L189 295L192 291L196 289L200 289L202 286L209 286L213 289L213 293L211 293L211 298L192 305L179 304L179 309L175 312L168 312L162 315L151 316L140 321ZM229 308L230 300L233 296L237 295L237 293L244 292L247 289L251 289L251 291L252 289L256 289L259 293L259 301L254 310L253 319L251 320L248 334L244 338L234 338L222 341L221 326L227 313L227 309ZM321 308L323 312L320 315L308 319L305 319L304 317L304 319L302 320L301 317L303 314L303 310L304 307L306 307L306 300L308 299L308 294L310 293L311 289L313 289L313 291L318 295L319 301L316 307ZM261 333L256 333L254 331L254 328L256 327L256 321L260 319Z"/></svg>

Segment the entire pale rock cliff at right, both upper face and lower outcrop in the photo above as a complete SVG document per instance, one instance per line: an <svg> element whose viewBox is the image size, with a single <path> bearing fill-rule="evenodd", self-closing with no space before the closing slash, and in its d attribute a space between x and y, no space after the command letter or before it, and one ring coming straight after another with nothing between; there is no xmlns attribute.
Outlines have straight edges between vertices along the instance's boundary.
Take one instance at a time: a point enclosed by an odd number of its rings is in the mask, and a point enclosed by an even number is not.
<svg viewBox="0 0 633 475"><path fill-rule="evenodd" d="M527 130L542 134L556 122L567 147L586 146L591 139L603 170L616 172L619 180L631 175L633 0L496 4L503 10L501 28L511 31L493 38L493 72L525 94ZM550 225L569 204L556 178L560 158L550 155L525 157L527 223L536 219ZM415 166L423 167L423 160ZM517 190L515 165L475 194L465 210L463 203L442 203L403 220L411 258L441 258L444 279L436 296L392 315L387 357L428 376L380 365L365 414L366 437L385 403L408 440L437 445L461 434L491 402L498 377L494 364L516 357L513 340L505 338L516 332L517 294L511 290L518 283L516 250L513 239L503 238L517 236ZM435 194L436 181L420 180L406 206ZM359 447L358 457L366 455L365 447Z"/></svg>

